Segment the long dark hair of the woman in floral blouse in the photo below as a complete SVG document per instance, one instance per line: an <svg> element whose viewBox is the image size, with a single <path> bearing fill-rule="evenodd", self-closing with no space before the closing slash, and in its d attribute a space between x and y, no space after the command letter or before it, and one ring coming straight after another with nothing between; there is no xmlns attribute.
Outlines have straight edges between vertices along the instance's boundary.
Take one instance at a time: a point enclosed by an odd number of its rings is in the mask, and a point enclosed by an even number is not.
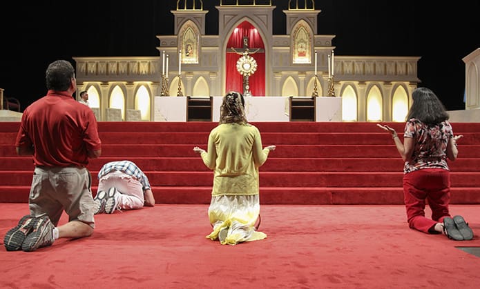
<svg viewBox="0 0 480 289"><path fill-rule="evenodd" d="M407 120L415 118L428 125L434 125L450 117L443 103L429 88L416 88L412 93L412 99Z"/></svg>

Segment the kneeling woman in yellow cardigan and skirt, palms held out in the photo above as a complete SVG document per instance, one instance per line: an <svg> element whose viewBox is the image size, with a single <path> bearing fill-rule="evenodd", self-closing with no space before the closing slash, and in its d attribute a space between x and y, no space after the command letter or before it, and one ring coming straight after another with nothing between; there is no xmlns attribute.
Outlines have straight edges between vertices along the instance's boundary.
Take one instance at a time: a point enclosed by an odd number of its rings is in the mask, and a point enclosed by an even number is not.
<svg viewBox="0 0 480 289"><path fill-rule="evenodd" d="M209 135L208 152L193 148L214 172L209 206L213 231L207 238L235 245L267 237L255 227L260 216L258 168L275 148L262 148L260 131L245 117L243 95L227 93L219 124Z"/></svg>

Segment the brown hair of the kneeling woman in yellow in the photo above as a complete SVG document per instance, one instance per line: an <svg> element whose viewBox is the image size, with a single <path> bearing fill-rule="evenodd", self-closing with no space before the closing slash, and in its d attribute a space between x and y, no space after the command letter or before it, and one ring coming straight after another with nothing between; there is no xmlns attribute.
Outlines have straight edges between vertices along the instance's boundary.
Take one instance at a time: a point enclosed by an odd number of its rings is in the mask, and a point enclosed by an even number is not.
<svg viewBox="0 0 480 289"><path fill-rule="evenodd" d="M245 100L240 92L231 91L223 97L222 106L220 106L219 123L240 123L247 124L245 116Z"/></svg>

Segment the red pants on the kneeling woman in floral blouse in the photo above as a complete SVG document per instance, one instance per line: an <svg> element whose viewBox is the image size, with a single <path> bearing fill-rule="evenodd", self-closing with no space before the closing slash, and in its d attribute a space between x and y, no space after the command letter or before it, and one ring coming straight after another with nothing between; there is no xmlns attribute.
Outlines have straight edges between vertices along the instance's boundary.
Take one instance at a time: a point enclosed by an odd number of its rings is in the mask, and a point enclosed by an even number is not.
<svg viewBox="0 0 480 289"><path fill-rule="evenodd" d="M448 212L450 203L450 172L443 169L423 169L403 176L403 197L407 210L408 226L421 232L435 234L436 223ZM425 204L432 210L432 219L425 217Z"/></svg>

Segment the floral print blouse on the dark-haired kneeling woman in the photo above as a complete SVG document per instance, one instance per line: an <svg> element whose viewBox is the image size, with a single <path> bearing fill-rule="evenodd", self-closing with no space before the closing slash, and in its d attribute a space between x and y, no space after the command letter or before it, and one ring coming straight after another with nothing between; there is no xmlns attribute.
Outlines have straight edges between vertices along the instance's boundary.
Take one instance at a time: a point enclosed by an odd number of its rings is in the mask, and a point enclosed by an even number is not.
<svg viewBox="0 0 480 289"><path fill-rule="evenodd" d="M453 130L448 121L428 126L418 119L409 119L405 123L403 137L414 139L412 159L405 161L403 168L405 174L423 168L450 170L446 151L448 140L453 137Z"/></svg>

